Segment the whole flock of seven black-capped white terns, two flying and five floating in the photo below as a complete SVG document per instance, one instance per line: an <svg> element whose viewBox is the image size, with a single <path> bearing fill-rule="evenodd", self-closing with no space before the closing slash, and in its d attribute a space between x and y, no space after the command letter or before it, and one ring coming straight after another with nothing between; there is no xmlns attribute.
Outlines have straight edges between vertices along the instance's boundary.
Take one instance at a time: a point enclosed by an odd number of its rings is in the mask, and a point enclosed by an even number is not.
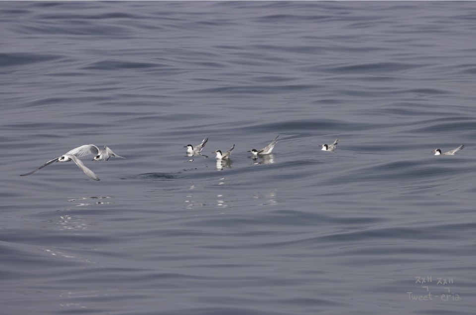
<svg viewBox="0 0 476 315"><path fill-rule="evenodd" d="M274 146L276 145L276 143L278 143L278 137L279 137L279 135L270 144L268 144L266 147L262 148L261 150L252 149L252 150L249 150L247 152L251 152L253 154L253 156L270 154L273 151ZM322 145L319 145L319 146L322 147L321 150L323 150L323 151L335 152L337 143L341 140L342 139L339 140L339 137L338 137L336 139L336 141L334 141L334 143L332 143L331 145L322 144ZM203 148L205 147L205 144L207 144L207 141L208 141L208 137L203 139L203 141L195 147L193 147L191 144L188 144L188 145L184 146L184 148L187 148L187 152L186 152L187 155L186 156L201 155L201 156L204 156L204 157L208 157L208 156L203 155L203 154L200 153L203 150ZM455 155L456 152L463 149L464 147L465 146L462 144L459 147L457 147L456 149L448 151L448 152L441 153L440 149L436 149L434 151L431 151L431 153L435 153L435 155ZM217 154L217 156L216 156L217 161L228 160L228 159L230 159L230 155L232 155L233 149L235 149L235 144L232 146L232 148L230 150L226 151L225 153L222 153L221 150L216 150L216 151L213 151L212 153ZM84 174L86 174L87 176L89 176L91 179L93 179L95 181L99 181L100 179L97 177L97 175L94 174L94 172L91 171L90 169L88 169L86 166L84 166L83 162L81 162L81 160L79 159L80 157L83 157L83 156L86 156L86 155L91 155L91 154L95 155L94 158L93 158L93 161L107 161L107 160L109 160L110 157L117 157L117 158L125 159L124 157L115 154L106 145L104 146L103 150L99 150L99 148L97 146L95 146L94 144L86 144L86 145L82 145L80 147L77 147L75 149L72 149L71 151L66 152L66 154L63 154L60 157L54 158L53 160L50 160L50 161L46 162L45 164L43 164L42 166L40 166L39 168L37 168L33 172L30 172L30 173L27 173L27 174L22 174L20 176L27 176L27 175L33 174L36 171L44 168L45 166L53 164L54 162L74 161L74 163L76 163L76 165L79 167L79 169L81 171L84 172Z"/></svg>

